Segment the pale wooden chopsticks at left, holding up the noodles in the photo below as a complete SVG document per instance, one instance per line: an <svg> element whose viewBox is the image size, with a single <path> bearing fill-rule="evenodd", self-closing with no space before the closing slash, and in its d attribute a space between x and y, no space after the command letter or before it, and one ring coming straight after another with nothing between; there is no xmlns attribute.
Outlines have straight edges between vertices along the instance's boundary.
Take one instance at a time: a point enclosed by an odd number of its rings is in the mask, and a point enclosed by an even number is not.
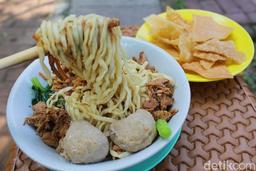
<svg viewBox="0 0 256 171"><path fill-rule="evenodd" d="M20 64L25 61L35 59L37 57L38 57L38 51L37 51L37 47L35 46L0 59L0 69L4 69L16 64Z"/></svg>

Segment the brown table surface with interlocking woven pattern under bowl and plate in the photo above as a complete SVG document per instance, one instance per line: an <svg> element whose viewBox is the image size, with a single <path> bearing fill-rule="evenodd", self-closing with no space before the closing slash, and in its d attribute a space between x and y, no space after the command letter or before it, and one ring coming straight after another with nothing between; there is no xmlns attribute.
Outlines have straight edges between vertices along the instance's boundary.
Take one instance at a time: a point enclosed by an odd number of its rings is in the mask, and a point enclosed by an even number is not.
<svg viewBox="0 0 256 171"><path fill-rule="evenodd" d="M137 28L126 27L123 32L134 36ZM201 171L208 161L256 165L256 98L243 80L235 77L190 86L192 101L180 138L153 170ZM9 157L7 170L47 170L15 145ZM226 170L230 170L227 165Z"/></svg>

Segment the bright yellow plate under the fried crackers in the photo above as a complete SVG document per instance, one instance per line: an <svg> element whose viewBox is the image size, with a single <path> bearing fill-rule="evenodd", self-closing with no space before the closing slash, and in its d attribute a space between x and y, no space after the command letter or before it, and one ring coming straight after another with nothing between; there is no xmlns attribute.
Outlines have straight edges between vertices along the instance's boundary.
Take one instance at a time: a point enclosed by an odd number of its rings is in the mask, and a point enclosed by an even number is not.
<svg viewBox="0 0 256 171"><path fill-rule="evenodd" d="M248 34L248 32L241 25L239 25L235 21L223 15L220 15L214 12L194 10L194 9L182 9L182 10L177 10L177 12L187 21L191 21L192 15L194 14L211 16L219 24L234 28L233 32L228 37L228 39L234 41L236 48L245 54L246 60L241 64L228 65L228 70L233 76L242 72L251 63L254 55L253 41L250 35ZM165 15L166 15L165 13L160 14L160 16L162 17L165 17ZM136 38L143 39L146 41L151 40L149 26L146 23L141 26L141 28L137 32ZM198 74L192 74L192 73L186 73L186 75L188 80L191 82L209 82L209 81L220 80L220 79L207 79L207 78L201 77Z"/></svg>

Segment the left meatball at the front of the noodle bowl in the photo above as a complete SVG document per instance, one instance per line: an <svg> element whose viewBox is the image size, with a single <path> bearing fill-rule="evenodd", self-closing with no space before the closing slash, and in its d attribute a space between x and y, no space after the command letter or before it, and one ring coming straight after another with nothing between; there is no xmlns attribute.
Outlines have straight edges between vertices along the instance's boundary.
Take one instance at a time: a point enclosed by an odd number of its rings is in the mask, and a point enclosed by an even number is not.
<svg viewBox="0 0 256 171"><path fill-rule="evenodd" d="M60 149L73 163L92 163L103 160L109 152L107 137L87 121L73 121Z"/></svg>

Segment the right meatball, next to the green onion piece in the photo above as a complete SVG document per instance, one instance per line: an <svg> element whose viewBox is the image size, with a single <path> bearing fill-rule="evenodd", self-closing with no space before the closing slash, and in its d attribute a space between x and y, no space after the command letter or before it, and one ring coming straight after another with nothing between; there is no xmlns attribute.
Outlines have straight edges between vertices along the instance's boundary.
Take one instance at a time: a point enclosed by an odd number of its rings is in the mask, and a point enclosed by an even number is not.
<svg viewBox="0 0 256 171"><path fill-rule="evenodd" d="M128 152L136 152L147 147L155 136L155 120L148 111L143 109L110 125L111 140Z"/></svg>

